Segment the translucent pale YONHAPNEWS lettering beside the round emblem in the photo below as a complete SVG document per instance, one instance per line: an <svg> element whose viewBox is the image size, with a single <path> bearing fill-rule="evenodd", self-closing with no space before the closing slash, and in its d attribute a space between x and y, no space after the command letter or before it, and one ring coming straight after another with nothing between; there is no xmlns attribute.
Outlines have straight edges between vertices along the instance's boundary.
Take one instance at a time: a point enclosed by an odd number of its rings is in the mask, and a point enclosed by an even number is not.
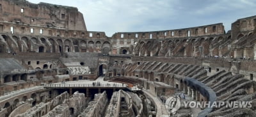
<svg viewBox="0 0 256 117"><path fill-rule="evenodd" d="M250 108L252 107L252 101L216 101L216 102L184 102L185 107L200 107L200 108L205 108L205 107L213 107L213 108L220 108L220 107L228 107L228 108Z"/></svg>

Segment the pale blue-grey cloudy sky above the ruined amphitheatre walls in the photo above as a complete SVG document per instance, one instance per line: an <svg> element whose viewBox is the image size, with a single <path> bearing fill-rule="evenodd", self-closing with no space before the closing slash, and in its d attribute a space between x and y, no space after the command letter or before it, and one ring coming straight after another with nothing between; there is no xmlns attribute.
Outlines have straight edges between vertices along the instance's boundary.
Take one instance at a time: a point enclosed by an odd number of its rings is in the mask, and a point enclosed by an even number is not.
<svg viewBox="0 0 256 117"><path fill-rule="evenodd" d="M74 6L88 31L163 31L223 23L226 32L238 18L256 15L255 0L28 0Z"/></svg>

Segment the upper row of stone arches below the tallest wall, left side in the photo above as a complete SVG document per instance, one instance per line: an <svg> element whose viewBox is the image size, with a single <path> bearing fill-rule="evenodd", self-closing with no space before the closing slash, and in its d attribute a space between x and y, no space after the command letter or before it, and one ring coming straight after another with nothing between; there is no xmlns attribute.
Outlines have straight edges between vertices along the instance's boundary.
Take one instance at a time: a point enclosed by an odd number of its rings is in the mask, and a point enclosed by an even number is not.
<svg viewBox="0 0 256 117"><path fill-rule="evenodd" d="M110 51L109 41L0 36L0 52L100 52Z"/></svg>

